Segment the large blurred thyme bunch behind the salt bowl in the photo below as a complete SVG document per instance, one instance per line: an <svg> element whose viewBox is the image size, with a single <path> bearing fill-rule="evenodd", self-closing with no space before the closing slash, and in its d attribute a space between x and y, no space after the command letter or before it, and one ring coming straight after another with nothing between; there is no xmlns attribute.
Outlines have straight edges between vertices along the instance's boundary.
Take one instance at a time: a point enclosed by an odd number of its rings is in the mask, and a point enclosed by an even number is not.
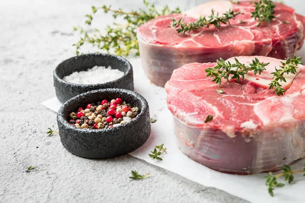
<svg viewBox="0 0 305 203"><path fill-rule="evenodd" d="M136 36L137 28L158 16L181 13L179 8L171 10L166 5L163 9L157 10L154 4L148 3L148 0L144 0L143 2L145 9L130 12L123 11L122 9L112 9L111 6L106 5L102 7L93 6L92 13L86 15L85 24L88 26L92 24L93 16L98 10L102 10L105 14L112 13L114 19L121 17L125 23L118 24L114 22L112 25L108 25L104 30L106 33L103 33L99 29L94 29L90 33L82 27L74 27L74 30L79 31L81 36L80 40L73 44L76 49L76 54L78 55L80 53L80 48L83 44L92 44L93 47L119 56L128 56L131 52L139 55L139 45Z"/></svg>

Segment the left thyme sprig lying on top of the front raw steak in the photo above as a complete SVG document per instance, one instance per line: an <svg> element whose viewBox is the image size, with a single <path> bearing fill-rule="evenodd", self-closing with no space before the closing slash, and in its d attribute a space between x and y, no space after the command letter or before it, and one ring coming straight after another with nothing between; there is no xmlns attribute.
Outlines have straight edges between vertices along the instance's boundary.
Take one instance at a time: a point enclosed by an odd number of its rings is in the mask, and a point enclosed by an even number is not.
<svg viewBox="0 0 305 203"><path fill-rule="evenodd" d="M269 63L262 63L255 57L252 60L252 63L246 65L244 63L240 63L237 58L234 58L236 63L231 63L230 61L225 61L220 58L217 60L217 65L215 67L209 67L204 71L207 73L206 77L214 78L212 82L216 82L219 86L221 85L221 79L224 78L229 82L230 76L231 79L237 79L239 82L239 78L242 80L245 79L245 74L249 71L254 71L256 75L261 74L262 71L266 70L265 66Z"/></svg>

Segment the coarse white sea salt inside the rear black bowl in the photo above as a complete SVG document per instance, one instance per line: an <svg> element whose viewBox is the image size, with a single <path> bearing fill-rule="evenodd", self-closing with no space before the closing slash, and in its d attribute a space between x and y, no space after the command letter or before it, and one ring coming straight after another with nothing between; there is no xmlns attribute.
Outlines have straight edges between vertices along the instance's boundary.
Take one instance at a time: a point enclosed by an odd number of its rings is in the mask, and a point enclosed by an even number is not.
<svg viewBox="0 0 305 203"><path fill-rule="evenodd" d="M110 66L94 66L87 71L74 72L65 76L64 80L77 84L100 84L117 80L124 76L124 72L117 69L111 69Z"/></svg>

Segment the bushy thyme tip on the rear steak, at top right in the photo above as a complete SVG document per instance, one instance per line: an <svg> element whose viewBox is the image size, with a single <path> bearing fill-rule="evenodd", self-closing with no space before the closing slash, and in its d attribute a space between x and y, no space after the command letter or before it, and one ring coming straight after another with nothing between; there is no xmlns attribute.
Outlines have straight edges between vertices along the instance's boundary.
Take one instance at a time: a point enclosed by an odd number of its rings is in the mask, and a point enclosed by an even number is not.
<svg viewBox="0 0 305 203"><path fill-rule="evenodd" d="M273 14L275 11L273 10L276 7L275 4L271 0L260 0L259 2L255 2L255 11L251 12L252 16L255 20L258 20L258 27L262 24L262 22L270 23L273 18L276 18Z"/></svg>

